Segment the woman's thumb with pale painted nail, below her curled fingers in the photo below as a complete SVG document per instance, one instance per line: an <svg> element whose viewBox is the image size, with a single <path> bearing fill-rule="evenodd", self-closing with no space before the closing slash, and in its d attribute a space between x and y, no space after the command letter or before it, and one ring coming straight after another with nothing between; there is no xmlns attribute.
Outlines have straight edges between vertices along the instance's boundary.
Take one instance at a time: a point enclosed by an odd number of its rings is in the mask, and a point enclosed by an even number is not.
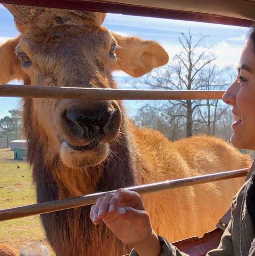
<svg viewBox="0 0 255 256"><path fill-rule="evenodd" d="M120 217L133 221L139 225L150 224L149 214L146 211L132 207L119 207L117 213Z"/></svg>

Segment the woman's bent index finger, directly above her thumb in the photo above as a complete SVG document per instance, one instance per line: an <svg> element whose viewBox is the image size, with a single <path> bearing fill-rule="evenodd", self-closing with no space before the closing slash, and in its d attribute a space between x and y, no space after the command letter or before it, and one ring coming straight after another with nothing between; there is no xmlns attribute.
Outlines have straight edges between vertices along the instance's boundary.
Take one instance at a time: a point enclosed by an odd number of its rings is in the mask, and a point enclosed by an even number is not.
<svg viewBox="0 0 255 256"><path fill-rule="evenodd" d="M144 210L141 196L135 192L123 188L118 189L110 201L109 212L116 211L118 207L132 207Z"/></svg>

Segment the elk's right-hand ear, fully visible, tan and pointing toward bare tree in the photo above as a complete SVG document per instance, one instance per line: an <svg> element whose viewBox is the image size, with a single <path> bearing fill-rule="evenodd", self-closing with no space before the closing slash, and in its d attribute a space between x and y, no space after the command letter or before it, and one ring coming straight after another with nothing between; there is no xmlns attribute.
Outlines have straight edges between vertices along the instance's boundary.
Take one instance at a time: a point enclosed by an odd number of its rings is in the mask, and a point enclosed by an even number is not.
<svg viewBox="0 0 255 256"><path fill-rule="evenodd" d="M123 37L112 32L117 40L117 63L113 70L123 70L133 77L142 76L168 63L169 56L155 41Z"/></svg>

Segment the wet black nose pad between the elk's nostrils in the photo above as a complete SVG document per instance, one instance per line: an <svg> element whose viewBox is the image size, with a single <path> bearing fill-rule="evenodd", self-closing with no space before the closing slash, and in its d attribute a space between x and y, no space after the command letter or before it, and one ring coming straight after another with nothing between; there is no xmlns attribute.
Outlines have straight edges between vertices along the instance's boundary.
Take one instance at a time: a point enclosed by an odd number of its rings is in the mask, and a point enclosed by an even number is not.
<svg viewBox="0 0 255 256"><path fill-rule="evenodd" d="M113 111L107 109L101 109L96 113L90 113L83 109L68 109L66 116L71 122L79 125L84 130L100 128L102 130L109 122L113 115Z"/></svg>

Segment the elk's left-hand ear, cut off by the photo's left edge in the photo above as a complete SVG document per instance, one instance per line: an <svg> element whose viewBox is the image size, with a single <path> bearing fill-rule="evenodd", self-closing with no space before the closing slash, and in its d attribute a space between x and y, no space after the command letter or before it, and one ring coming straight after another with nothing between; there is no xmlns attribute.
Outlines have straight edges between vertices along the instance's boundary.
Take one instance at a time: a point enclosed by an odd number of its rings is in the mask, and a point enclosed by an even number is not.
<svg viewBox="0 0 255 256"><path fill-rule="evenodd" d="M0 45L0 84L6 84L13 79L25 80L27 77L15 54L19 38L10 39Z"/></svg>

